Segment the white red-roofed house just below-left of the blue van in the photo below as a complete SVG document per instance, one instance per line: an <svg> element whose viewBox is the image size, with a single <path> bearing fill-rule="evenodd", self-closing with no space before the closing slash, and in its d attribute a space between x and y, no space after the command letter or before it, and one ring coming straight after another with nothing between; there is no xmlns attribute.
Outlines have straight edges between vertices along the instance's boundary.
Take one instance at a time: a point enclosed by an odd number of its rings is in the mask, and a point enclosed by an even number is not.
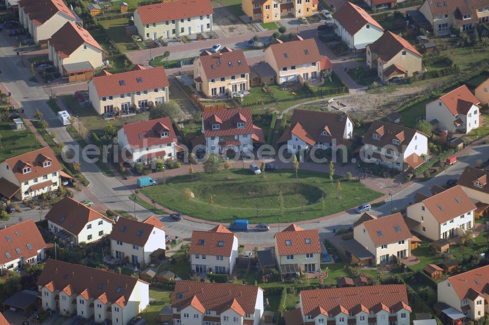
<svg viewBox="0 0 489 325"><path fill-rule="evenodd" d="M232 274L238 258L238 236L222 225L192 231L190 264L197 274Z"/></svg>

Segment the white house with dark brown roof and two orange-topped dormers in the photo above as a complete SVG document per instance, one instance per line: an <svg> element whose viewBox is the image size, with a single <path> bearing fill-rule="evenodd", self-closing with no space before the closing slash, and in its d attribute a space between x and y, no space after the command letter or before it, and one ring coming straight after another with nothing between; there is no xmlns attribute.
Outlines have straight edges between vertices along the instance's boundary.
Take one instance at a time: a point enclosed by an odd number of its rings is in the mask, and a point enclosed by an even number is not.
<svg viewBox="0 0 489 325"><path fill-rule="evenodd" d="M428 154L428 137L420 131L399 124L373 121L363 139L365 162L403 171L424 163Z"/></svg>

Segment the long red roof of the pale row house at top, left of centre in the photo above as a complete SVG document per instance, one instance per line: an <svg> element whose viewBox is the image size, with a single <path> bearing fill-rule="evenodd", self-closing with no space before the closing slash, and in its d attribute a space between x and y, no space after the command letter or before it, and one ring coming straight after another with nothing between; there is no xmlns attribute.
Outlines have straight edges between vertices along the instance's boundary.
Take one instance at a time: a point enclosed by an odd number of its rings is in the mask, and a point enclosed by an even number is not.
<svg viewBox="0 0 489 325"><path fill-rule="evenodd" d="M172 21L182 18L211 15L210 0L177 0L137 7L143 24Z"/></svg>

